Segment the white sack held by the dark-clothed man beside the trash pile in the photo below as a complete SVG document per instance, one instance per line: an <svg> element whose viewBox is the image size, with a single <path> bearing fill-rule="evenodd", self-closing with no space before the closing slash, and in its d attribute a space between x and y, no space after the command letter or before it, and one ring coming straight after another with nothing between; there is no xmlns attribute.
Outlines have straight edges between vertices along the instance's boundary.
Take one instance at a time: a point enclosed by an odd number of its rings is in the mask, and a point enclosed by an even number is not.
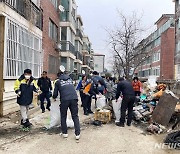
<svg viewBox="0 0 180 154"><path fill-rule="evenodd" d="M121 103L122 103L122 98L121 97L119 97L117 102L116 102L116 100L112 101L113 111L114 111L114 114L115 114L115 117L116 117L115 122L119 122L119 120L120 120Z"/></svg>

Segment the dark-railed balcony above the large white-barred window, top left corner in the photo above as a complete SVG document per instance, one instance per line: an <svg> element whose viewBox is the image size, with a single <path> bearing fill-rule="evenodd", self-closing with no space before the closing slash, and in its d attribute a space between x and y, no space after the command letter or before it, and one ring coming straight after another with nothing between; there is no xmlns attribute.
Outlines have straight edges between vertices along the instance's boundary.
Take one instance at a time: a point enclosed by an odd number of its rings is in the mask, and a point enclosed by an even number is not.
<svg viewBox="0 0 180 154"><path fill-rule="evenodd" d="M31 0L0 0L42 30L42 12Z"/></svg>

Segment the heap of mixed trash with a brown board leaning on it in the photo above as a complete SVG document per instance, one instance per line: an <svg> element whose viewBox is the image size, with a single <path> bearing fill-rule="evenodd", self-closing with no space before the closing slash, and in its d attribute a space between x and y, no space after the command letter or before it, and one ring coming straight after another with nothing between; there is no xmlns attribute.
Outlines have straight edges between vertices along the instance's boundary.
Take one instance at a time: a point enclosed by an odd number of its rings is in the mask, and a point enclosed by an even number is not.
<svg viewBox="0 0 180 154"><path fill-rule="evenodd" d="M180 122L179 98L165 84L157 85L155 79L143 83L142 89L133 108L134 121L147 123L146 130L150 133L163 133L175 116L175 128Z"/></svg>

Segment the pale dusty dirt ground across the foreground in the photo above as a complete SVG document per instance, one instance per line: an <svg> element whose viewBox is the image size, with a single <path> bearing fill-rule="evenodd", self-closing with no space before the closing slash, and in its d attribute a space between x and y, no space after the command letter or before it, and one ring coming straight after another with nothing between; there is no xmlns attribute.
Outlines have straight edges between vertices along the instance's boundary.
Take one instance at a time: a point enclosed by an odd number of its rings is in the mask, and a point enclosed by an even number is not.
<svg viewBox="0 0 180 154"><path fill-rule="evenodd" d="M176 154L177 150L157 148L165 135L147 135L142 129L131 126L120 128L114 123L93 126L93 115L84 116L80 108L81 139L76 142L74 130L69 129L68 139L60 136L60 129L44 129L49 112L31 115L33 128L30 132L20 130L19 123L8 118L0 121L0 153L2 154Z"/></svg>

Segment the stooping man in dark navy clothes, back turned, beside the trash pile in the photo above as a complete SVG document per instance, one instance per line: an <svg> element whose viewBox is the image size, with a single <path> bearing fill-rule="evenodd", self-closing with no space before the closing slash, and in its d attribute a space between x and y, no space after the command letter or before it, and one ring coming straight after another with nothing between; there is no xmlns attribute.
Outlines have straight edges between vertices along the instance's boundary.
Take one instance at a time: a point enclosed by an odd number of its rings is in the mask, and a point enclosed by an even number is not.
<svg viewBox="0 0 180 154"><path fill-rule="evenodd" d="M132 84L129 81L124 80L124 78L122 77L119 79L119 84L117 86L116 102L118 101L118 98L121 93L123 95L123 100L121 105L121 118L120 118L120 122L116 123L116 125L120 127L124 127L126 110L128 110L127 125L131 126L133 104L135 102L134 89L132 87Z"/></svg>

